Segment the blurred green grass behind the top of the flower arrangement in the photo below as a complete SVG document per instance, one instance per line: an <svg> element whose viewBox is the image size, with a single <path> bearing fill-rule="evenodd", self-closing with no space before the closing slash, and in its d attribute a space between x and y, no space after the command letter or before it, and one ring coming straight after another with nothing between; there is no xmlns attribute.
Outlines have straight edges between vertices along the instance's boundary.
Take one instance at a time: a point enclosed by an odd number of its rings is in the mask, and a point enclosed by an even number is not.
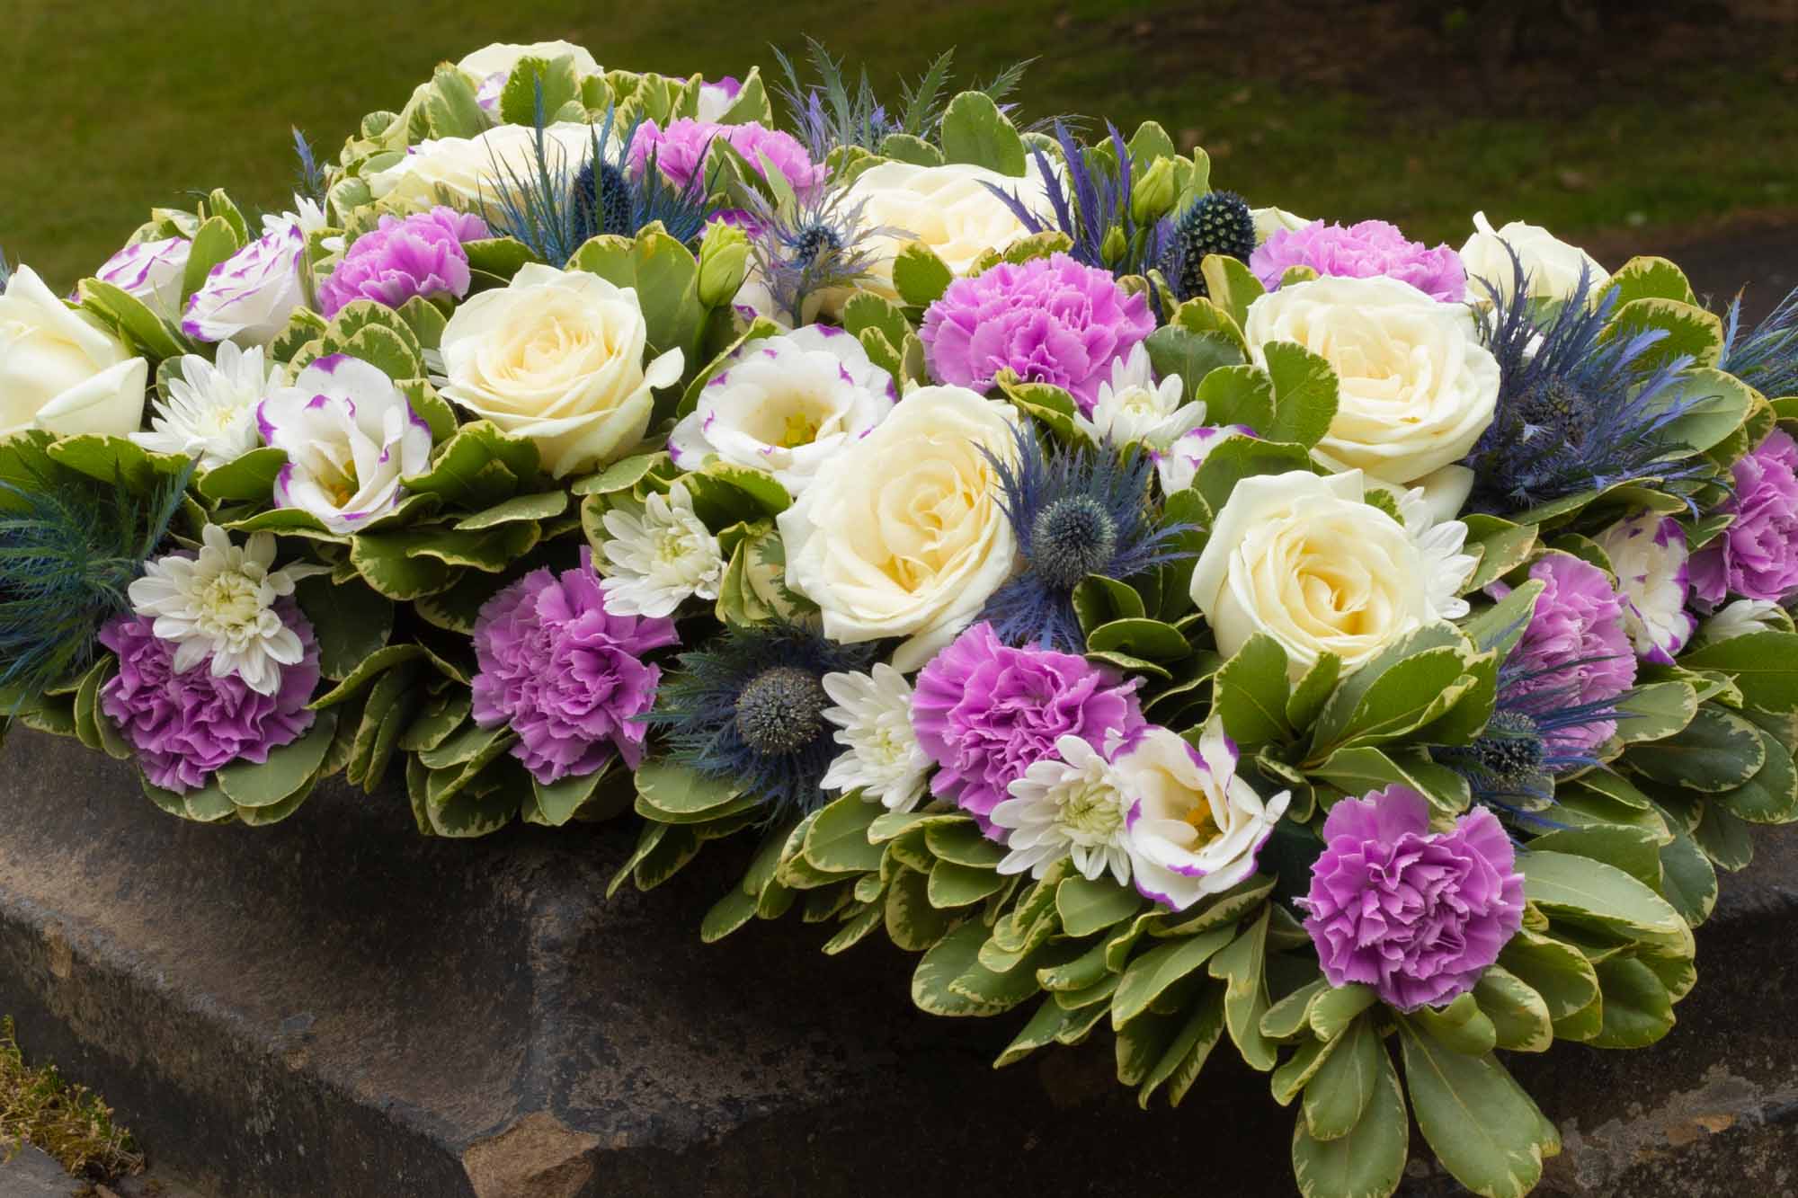
<svg viewBox="0 0 1798 1198"><path fill-rule="evenodd" d="M1798 205L1793 86L1773 47L1764 63L1746 47L1746 65L1670 72L1647 92L1606 99L1591 86L1544 119L1503 90L1440 103L1325 85L1280 92L1253 54L1156 38L1163 16L1257 4L0 0L0 108L13 113L0 133L0 246L67 286L151 205L185 207L187 192L221 185L277 209L293 180L289 124L333 155L363 112L399 108L439 59L539 38L581 41L606 67L721 76L752 63L766 72L770 41L795 52L809 32L883 85L951 45L962 81L1039 56L1025 115L1100 115L1126 131L1153 117L1205 144L1214 183L1257 205L1381 216L1456 245L1474 209L1579 236Z"/></svg>

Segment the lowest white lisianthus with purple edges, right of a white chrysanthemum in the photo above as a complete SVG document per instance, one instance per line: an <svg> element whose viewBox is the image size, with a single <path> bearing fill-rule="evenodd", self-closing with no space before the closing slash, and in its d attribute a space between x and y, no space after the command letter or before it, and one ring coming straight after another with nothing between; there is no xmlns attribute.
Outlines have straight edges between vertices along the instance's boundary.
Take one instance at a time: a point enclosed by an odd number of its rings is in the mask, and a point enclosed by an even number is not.
<svg viewBox="0 0 1798 1198"><path fill-rule="evenodd" d="M1237 750L1212 720L1194 748L1151 727L1111 754L1129 802L1127 851L1136 890L1185 910L1255 872L1255 856L1293 793L1266 802L1237 777Z"/></svg>

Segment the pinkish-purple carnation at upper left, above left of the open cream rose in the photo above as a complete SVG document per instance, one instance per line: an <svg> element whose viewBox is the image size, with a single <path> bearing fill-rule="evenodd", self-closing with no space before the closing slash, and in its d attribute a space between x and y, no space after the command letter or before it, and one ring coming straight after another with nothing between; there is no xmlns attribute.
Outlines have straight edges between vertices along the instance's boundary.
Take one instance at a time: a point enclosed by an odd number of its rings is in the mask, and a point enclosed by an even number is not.
<svg viewBox="0 0 1798 1198"><path fill-rule="evenodd" d="M467 295L464 241L487 237L478 216L435 207L405 219L383 216L378 228L356 237L343 261L318 288L318 311L334 317L351 300L370 299L399 308L414 295Z"/></svg>

